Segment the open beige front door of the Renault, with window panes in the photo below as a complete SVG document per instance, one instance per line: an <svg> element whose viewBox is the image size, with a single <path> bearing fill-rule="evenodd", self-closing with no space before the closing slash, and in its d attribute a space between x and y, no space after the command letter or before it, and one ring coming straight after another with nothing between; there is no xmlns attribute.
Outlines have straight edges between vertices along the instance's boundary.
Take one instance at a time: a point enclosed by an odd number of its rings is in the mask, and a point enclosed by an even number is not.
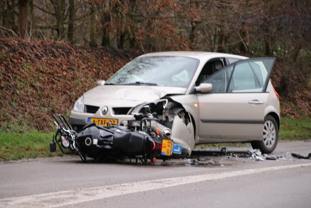
<svg viewBox="0 0 311 208"><path fill-rule="evenodd" d="M266 92L275 58L245 59L226 66L201 83L198 93L200 143L262 140Z"/></svg>

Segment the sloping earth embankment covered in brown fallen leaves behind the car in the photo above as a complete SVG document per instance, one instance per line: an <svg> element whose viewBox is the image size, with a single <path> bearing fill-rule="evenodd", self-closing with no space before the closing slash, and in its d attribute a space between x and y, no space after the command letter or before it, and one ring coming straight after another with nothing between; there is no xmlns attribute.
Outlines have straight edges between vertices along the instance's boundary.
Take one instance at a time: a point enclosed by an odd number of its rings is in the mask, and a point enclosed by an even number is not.
<svg viewBox="0 0 311 208"><path fill-rule="evenodd" d="M0 39L0 128L52 130L53 113L68 114L83 92L107 80L140 50L82 48L54 41ZM272 82L279 88L281 64ZM299 70L295 86L281 98L283 116L311 116L308 77Z"/></svg>

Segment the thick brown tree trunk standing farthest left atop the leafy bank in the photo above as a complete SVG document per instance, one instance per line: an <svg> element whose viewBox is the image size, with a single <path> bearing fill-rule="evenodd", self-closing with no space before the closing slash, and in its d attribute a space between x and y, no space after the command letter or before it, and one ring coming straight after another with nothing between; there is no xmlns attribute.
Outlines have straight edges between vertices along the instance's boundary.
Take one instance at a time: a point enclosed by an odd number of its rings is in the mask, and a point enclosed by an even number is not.
<svg viewBox="0 0 311 208"><path fill-rule="evenodd" d="M18 0L18 28L21 39L25 39L28 23L28 0Z"/></svg>

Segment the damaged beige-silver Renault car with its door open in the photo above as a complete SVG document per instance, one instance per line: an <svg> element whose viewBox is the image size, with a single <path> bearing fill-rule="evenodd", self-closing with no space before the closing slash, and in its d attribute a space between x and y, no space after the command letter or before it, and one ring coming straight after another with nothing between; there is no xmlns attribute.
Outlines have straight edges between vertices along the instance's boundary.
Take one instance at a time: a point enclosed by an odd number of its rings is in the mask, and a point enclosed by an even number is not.
<svg viewBox="0 0 311 208"><path fill-rule="evenodd" d="M211 52L144 54L85 92L69 122L75 130L88 122L126 126L136 106L166 99L163 114L153 116L189 155L195 144L224 142L251 142L271 153L280 129L279 98L269 79L274 62Z"/></svg>

